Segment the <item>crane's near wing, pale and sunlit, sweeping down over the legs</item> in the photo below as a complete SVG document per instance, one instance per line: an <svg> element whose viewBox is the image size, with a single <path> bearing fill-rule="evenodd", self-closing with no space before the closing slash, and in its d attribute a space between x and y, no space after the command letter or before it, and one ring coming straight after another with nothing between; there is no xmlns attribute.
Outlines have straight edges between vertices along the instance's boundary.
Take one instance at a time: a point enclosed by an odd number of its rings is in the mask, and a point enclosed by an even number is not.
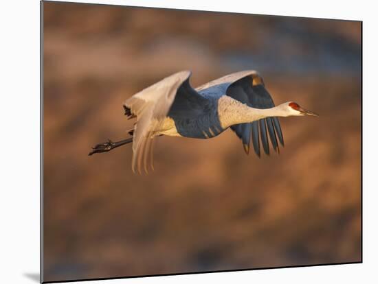
<svg viewBox="0 0 378 284"><path fill-rule="evenodd" d="M124 103L129 115L135 115L137 122L133 131L133 171L137 167L147 172L147 161L153 168L152 142L159 124L168 113L201 111L203 98L189 84L191 72L181 71L145 88Z"/></svg>

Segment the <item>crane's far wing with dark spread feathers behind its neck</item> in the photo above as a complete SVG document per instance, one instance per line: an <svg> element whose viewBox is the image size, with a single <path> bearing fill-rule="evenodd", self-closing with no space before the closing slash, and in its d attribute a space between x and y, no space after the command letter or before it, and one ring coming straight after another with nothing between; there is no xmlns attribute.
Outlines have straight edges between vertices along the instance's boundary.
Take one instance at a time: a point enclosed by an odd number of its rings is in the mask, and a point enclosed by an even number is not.
<svg viewBox="0 0 378 284"><path fill-rule="evenodd" d="M274 107L273 99L271 99L271 96L265 88L263 78L261 78L256 71L243 71L235 74L237 74L235 77L236 80L227 86L226 94L228 96L253 108ZM278 117L267 117L252 123L237 124L231 126L231 129L234 130L236 135L243 141L243 147L247 154L249 152L249 141L251 137L254 151L258 156L260 156L260 139L265 154L269 155L268 133L274 150L279 152L277 137L281 145L284 145Z"/></svg>

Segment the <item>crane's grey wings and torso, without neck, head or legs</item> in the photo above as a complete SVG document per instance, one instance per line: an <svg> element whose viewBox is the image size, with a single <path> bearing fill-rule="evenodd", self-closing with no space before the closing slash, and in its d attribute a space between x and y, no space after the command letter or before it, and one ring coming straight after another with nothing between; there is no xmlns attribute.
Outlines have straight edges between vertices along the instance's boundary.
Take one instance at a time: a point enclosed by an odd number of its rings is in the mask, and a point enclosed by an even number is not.
<svg viewBox="0 0 378 284"><path fill-rule="evenodd" d="M219 99L224 95L252 108L272 108L274 102L256 71L241 71L192 88L190 71L170 75L126 100L124 106L130 115L137 117L133 132L133 170L145 164L152 138L164 133L164 123L172 119L177 136L205 139L215 137L226 128L221 125ZM266 154L269 142L278 150L278 140L283 145L282 131L277 117L267 117L250 123L238 123L231 129L243 141L245 152L252 137L254 150L260 156L259 136ZM260 135L259 131L260 129ZM268 130L268 131L267 131ZM168 132L167 132L168 133Z"/></svg>

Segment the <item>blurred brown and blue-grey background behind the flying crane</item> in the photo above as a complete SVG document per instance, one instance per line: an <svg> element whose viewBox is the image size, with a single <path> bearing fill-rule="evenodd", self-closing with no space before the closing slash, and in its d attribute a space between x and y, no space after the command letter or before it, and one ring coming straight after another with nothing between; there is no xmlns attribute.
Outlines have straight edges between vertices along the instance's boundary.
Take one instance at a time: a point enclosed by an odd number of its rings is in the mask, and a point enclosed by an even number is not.
<svg viewBox="0 0 378 284"><path fill-rule="evenodd" d="M44 280L361 261L361 23L44 2ZM159 137L132 174L124 100L190 69L192 86L256 69L280 154L231 131Z"/></svg>

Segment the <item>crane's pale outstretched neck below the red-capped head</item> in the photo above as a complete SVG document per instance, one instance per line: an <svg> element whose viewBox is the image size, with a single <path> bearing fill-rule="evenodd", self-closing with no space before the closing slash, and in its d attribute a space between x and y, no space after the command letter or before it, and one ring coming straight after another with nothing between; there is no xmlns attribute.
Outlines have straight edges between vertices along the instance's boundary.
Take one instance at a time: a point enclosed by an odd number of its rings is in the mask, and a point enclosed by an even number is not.
<svg viewBox="0 0 378 284"><path fill-rule="evenodd" d="M282 108L251 108L232 97L223 96L218 103L219 121L223 129L240 123L249 123L265 117L286 117Z"/></svg>

